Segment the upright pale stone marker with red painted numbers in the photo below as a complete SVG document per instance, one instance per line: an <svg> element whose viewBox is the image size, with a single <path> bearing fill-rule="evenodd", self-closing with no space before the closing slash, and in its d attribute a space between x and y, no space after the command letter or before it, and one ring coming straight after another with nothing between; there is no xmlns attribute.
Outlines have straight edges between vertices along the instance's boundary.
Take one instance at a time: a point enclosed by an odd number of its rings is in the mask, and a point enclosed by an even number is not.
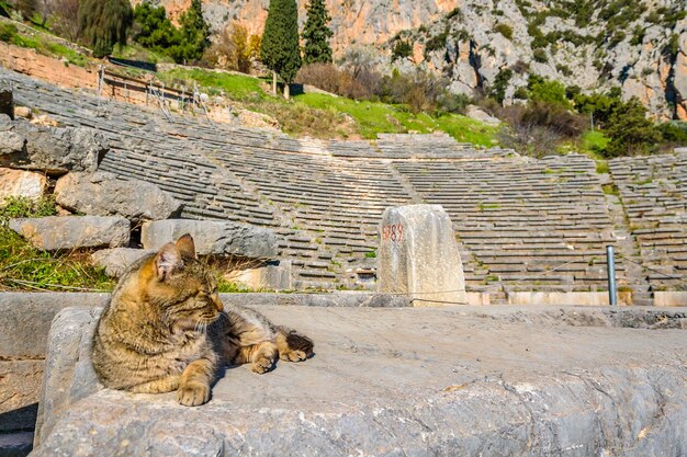
<svg viewBox="0 0 687 457"><path fill-rule="evenodd" d="M409 294L414 306L465 304L463 263L441 205L386 208L380 227L378 289ZM420 301L424 300L424 301Z"/></svg>

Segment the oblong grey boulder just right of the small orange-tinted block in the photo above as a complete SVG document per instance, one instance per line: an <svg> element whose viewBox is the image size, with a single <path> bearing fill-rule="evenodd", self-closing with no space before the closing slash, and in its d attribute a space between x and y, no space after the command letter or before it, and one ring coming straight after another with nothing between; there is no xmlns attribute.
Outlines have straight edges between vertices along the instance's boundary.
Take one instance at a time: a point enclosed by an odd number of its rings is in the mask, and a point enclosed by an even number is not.
<svg viewBox="0 0 687 457"><path fill-rule="evenodd" d="M181 203L153 183L122 180L113 173L69 173L57 181L55 201L92 216L122 216L132 221L178 215Z"/></svg>

